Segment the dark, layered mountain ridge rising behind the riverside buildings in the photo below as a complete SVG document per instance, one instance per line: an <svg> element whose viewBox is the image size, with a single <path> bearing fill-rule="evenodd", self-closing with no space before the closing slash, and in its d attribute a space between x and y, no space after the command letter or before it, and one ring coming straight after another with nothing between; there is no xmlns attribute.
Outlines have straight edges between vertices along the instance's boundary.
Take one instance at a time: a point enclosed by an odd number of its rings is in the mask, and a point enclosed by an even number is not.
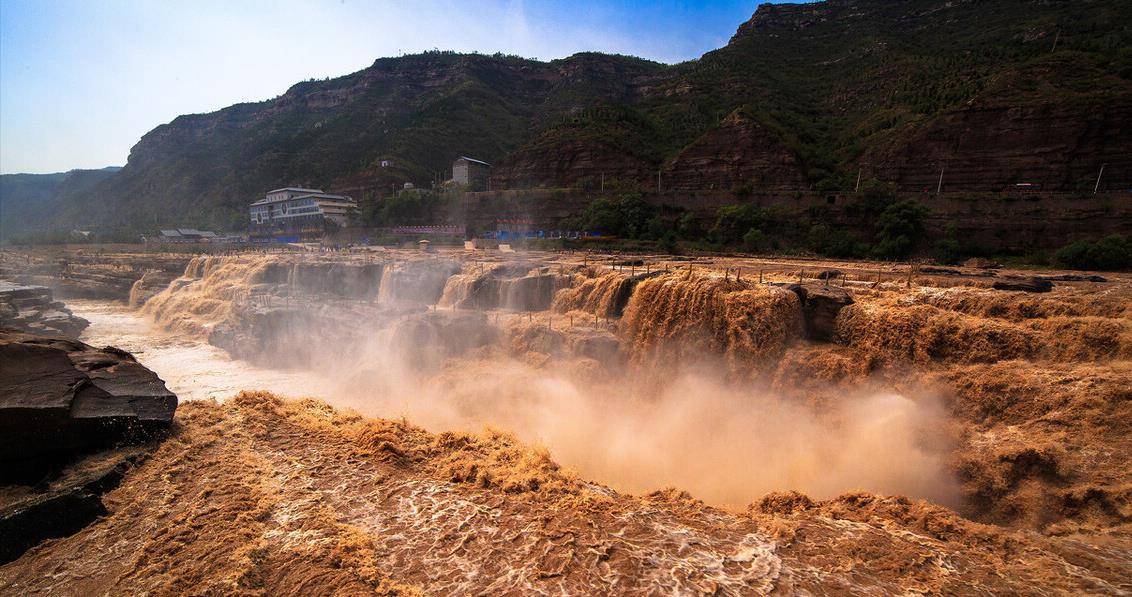
<svg viewBox="0 0 1132 597"><path fill-rule="evenodd" d="M43 225L239 228L264 190L381 194L494 164L494 188L598 179L700 191L1132 187L1132 3L763 5L730 42L661 65L429 52L181 116ZM381 164L387 162L387 167ZM679 198L675 198L679 202Z"/></svg>

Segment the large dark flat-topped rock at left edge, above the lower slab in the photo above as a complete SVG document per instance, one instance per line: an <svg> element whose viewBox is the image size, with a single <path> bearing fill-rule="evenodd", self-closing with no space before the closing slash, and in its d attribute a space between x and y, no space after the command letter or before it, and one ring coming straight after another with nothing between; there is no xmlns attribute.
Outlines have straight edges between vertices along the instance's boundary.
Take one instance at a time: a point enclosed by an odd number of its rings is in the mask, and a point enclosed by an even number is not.
<svg viewBox="0 0 1132 597"><path fill-rule="evenodd" d="M169 427L177 396L128 352L0 329L0 480Z"/></svg>

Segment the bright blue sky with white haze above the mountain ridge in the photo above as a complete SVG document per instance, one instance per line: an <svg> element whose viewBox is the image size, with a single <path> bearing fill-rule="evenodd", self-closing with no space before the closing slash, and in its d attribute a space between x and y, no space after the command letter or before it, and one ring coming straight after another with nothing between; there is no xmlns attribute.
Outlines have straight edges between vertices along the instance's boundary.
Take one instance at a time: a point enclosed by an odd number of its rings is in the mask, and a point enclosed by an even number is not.
<svg viewBox="0 0 1132 597"><path fill-rule="evenodd" d="M727 43L758 0L0 0L0 172L126 163L146 131L441 50L663 62Z"/></svg>

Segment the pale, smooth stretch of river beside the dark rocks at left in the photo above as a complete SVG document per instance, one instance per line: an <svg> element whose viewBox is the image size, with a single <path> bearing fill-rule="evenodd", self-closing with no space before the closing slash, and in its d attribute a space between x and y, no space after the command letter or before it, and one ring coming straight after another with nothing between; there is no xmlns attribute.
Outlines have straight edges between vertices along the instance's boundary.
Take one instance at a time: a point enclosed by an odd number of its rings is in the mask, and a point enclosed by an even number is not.
<svg viewBox="0 0 1132 597"><path fill-rule="evenodd" d="M129 351L181 400L223 400L249 389L289 396L329 393L329 379L317 373L268 369L232 360L216 347L160 330L140 312L122 304L69 299L67 307L91 322L79 340Z"/></svg>

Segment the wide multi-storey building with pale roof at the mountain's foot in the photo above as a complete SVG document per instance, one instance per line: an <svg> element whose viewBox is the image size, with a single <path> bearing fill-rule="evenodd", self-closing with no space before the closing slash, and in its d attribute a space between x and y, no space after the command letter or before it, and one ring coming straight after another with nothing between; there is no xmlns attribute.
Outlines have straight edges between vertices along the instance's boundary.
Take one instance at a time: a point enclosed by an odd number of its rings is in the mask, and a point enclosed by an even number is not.
<svg viewBox="0 0 1132 597"><path fill-rule="evenodd" d="M251 204L251 232L256 236L320 236L327 222L345 225L358 203L321 189L285 187L269 190Z"/></svg>

